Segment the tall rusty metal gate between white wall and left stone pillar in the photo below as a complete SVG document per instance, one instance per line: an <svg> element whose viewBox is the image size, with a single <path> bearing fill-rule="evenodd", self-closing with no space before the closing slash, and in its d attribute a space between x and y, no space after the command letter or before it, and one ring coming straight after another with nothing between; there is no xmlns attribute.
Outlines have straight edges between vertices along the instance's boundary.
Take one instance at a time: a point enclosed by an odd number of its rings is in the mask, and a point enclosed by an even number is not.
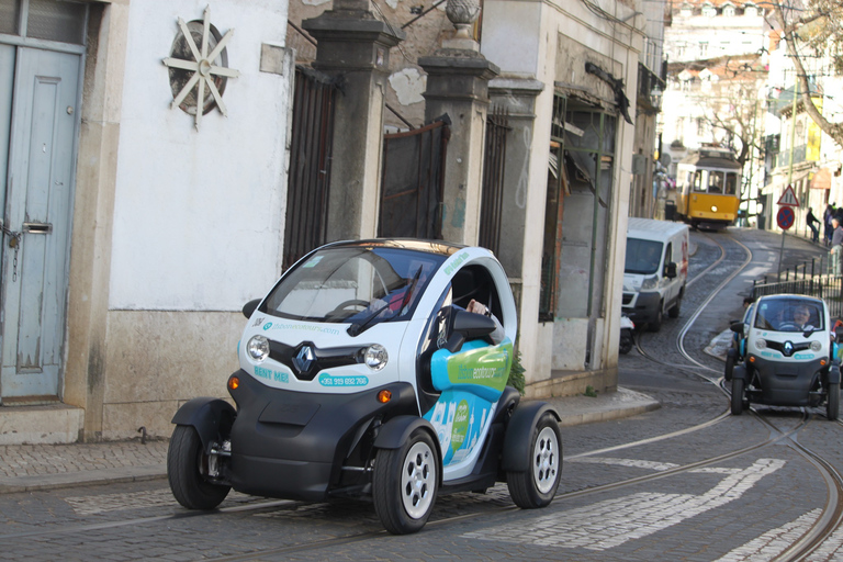
<svg viewBox="0 0 843 562"><path fill-rule="evenodd" d="M330 78L296 67L286 182L284 269L326 241L337 91Z"/></svg>

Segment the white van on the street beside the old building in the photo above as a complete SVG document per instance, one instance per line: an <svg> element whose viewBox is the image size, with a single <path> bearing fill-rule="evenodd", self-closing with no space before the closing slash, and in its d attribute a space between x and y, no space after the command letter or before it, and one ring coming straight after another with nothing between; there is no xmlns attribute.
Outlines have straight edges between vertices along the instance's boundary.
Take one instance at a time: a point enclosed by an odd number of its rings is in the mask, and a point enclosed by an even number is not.
<svg viewBox="0 0 843 562"><path fill-rule="evenodd" d="M630 218L623 267L623 315L659 331L666 312L679 315L688 279L688 226Z"/></svg>

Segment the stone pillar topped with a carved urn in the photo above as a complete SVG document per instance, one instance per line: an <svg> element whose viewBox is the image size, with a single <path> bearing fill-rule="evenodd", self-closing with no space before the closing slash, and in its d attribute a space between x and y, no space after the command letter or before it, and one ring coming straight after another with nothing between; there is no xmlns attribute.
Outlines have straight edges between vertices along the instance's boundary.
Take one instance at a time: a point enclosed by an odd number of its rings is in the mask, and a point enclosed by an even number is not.
<svg viewBox="0 0 843 562"><path fill-rule="evenodd" d="M480 54L468 33L480 13L475 0L449 0L448 18L457 32L431 57L418 59L427 72L425 121L448 114L451 138L445 165L442 237L448 241L476 244L480 231L481 183L488 81L499 74Z"/></svg>

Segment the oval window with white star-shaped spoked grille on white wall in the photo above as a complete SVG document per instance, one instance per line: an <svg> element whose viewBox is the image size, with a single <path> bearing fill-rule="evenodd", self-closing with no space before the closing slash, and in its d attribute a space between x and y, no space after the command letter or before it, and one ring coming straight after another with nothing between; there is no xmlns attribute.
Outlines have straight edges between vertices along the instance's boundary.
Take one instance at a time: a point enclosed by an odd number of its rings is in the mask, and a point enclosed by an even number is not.
<svg viewBox="0 0 843 562"><path fill-rule="evenodd" d="M223 115L228 115L223 103L225 85L228 78L240 76L237 70L228 68L225 48L234 35L234 29L221 36L216 27L211 25L209 8L205 8L203 21L186 23L179 18L178 22L179 33L172 42L170 56L164 59L169 68L172 89L170 106L194 115L199 130L202 115L214 108L218 108Z"/></svg>

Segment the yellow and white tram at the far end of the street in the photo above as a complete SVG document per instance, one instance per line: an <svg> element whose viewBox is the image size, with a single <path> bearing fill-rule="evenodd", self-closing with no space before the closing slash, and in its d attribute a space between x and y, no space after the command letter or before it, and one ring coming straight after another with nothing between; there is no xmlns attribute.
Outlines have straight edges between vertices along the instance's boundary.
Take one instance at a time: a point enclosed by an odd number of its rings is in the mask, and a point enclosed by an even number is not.
<svg viewBox="0 0 843 562"><path fill-rule="evenodd" d="M730 150L700 148L676 166L676 212L696 228L724 228L738 217L741 165Z"/></svg>

